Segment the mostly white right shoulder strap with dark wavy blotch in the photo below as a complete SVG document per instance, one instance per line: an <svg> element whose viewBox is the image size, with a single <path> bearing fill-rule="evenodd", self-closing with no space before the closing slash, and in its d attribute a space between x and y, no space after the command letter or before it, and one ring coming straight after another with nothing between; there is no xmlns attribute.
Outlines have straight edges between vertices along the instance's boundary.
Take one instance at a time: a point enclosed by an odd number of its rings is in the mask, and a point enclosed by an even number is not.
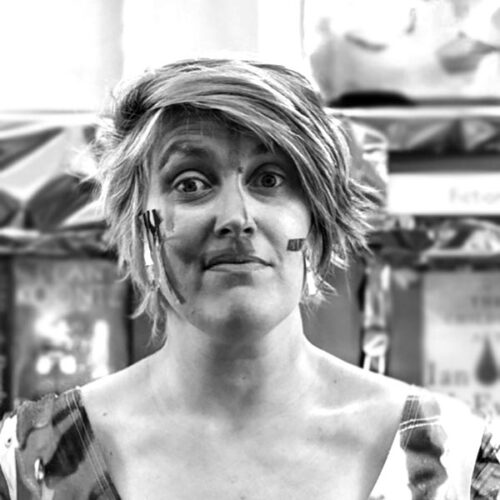
<svg viewBox="0 0 500 500"><path fill-rule="evenodd" d="M370 500L500 498L500 429L454 398L418 389Z"/></svg>

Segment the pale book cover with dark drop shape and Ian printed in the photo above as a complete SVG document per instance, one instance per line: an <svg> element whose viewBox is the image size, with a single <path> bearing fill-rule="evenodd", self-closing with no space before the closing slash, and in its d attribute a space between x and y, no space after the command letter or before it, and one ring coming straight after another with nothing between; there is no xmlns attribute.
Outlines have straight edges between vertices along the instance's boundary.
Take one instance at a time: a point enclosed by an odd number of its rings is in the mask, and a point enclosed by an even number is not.
<svg viewBox="0 0 500 500"><path fill-rule="evenodd" d="M423 279L424 385L500 414L500 271Z"/></svg>

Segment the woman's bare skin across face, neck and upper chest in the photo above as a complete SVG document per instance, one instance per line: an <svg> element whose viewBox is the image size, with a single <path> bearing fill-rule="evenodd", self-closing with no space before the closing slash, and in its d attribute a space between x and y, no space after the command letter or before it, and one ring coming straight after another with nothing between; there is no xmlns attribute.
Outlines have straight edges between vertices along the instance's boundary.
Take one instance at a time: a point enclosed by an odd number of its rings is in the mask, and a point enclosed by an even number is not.
<svg viewBox="0 0 500 500"><path fill-rule="evenodd" d="M121 497L366 499L407 388L306 339L303 255L287 245L311 216L294 166L213 122L170 130L151 163L147 208L185 300L162 278L166 343L82 390ZM264 264L207 268L227 251Z"/></svg>

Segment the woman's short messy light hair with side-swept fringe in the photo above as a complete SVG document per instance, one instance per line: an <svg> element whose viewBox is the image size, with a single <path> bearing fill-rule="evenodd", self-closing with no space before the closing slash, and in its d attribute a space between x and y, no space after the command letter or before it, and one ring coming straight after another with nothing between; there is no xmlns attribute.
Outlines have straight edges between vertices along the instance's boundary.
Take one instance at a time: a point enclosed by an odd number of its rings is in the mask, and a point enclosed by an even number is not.
<svg viewBox="0 0 500 500"><path fill-rule="evenodd" d="M147 201L151 151L165 123L193 113L209 113L248 131L292 160L311 210L312 262L320 289L332 268L367 248L370 195L349 173L349 134L325 112L302 74L234 59L167 64L118 90L95 142L110 239L139 292L141 311L154 320L161 313L161 300L148 282L139 218Z"/></svg>

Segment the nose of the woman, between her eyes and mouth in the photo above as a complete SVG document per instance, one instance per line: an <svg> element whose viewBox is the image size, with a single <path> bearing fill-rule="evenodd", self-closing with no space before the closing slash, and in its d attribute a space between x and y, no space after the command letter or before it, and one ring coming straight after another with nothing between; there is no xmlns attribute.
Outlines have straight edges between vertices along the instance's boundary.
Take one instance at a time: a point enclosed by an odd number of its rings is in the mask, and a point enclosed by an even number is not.
<svg viewBox="0 0 500 500"><path fill-rule="evenodd" d="M251 236L256 229L253 212L253 200L239 182L225 186L217 203L216 236Z"/></svg>

